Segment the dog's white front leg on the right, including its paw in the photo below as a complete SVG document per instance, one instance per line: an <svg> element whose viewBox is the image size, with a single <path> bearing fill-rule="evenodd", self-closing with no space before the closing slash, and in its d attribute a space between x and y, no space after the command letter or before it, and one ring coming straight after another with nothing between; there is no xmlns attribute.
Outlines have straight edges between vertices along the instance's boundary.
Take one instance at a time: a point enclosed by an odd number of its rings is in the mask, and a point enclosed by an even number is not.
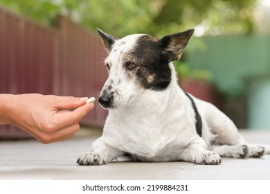
<svg viewBox="0 0 270 194"><path fill-rule="evenodd" d="M194 141L190 143L181 154L183 161L192 161L195 164L220 164L221 157L215 152L205 149L205 143Z"/></svg>

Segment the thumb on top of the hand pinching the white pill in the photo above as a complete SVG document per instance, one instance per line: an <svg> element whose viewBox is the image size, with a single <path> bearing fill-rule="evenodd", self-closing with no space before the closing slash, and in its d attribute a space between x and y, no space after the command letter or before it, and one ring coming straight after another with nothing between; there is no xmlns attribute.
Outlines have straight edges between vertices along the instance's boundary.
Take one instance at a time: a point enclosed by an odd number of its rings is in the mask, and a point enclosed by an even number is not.
<svg viewBox="0 0 270 194"><path fill-rule="evenodd" d="M78 108L87 103L87 97L76 98L73 96L59 96L57 102L55 102L55 107L59 109L73 109Z"/></svg>

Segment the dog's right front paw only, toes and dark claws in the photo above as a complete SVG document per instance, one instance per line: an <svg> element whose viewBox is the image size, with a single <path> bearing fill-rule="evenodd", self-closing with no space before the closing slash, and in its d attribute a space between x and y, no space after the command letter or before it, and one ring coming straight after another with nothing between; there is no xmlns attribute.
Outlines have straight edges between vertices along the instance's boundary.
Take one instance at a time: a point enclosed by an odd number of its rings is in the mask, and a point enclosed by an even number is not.
<svg viewBox="0 0 270 194"><path fill-rule="evenodd" d="M195 164L220 164L222 158L215 152L206 151L195 157L193 162Z"/></svg>

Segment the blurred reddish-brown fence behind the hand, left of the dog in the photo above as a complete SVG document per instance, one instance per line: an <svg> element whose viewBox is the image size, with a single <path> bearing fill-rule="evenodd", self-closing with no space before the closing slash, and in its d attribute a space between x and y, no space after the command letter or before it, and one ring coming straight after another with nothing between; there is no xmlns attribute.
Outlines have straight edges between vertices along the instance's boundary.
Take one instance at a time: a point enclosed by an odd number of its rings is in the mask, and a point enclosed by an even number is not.
<svg viewBox="0 0 270 194"><path fill-rule="evenodd" d="M106 80L102 42L88 30L59 17L48 28L0 7L0 94L98 96ZM82 119L102 126L106 112L93 109ZM0 137L21 134L0 126Z"/></svg>

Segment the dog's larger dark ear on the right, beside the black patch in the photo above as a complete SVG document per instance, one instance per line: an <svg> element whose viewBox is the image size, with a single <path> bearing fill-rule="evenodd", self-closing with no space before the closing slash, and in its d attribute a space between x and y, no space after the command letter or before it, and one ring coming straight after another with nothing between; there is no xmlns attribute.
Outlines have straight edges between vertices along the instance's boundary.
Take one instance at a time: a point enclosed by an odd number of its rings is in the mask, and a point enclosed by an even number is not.
<svg viewBox="0 0 270 194"><path fill-rule="evenodd" d="M188 44L193 32L194 29L190 29L182 33L167 35L159 39L161 58L163 58L163 60L167 60L168 62L179 60L183 53L183 49Z"/></svg>

